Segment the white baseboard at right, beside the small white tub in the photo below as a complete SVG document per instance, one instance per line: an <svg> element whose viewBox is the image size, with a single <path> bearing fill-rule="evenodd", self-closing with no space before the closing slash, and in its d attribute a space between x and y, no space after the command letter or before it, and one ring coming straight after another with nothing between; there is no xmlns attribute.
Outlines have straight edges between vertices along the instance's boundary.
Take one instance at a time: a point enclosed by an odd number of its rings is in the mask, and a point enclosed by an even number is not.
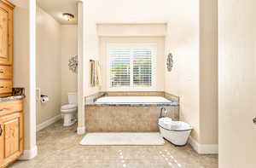
<svg viewBox="0 0 256 168"><path fill-rule="evenodd" d="M201 144L189 136L189 144L198 154L218 154L218 144Z"/></svg>

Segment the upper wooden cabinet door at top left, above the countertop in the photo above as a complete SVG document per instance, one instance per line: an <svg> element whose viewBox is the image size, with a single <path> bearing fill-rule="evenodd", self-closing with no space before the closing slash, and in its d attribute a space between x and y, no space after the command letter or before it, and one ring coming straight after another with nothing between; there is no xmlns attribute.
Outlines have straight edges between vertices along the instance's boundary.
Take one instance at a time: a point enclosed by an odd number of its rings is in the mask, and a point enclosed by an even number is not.
<svg viewBox="0 0 256 168"><path fill-rule="evenodd" d="M11 65L13 56L13 10L0 1L0 64Z"/></svg>

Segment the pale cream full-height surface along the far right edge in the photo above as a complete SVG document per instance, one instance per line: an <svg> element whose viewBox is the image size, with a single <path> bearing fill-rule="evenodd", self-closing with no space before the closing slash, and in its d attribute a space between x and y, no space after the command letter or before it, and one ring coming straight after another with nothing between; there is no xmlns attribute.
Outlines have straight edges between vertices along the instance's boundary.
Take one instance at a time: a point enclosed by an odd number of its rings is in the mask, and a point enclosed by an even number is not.
<svg viewBox="0 0 256 168"><path fill-rule="evenodd" d="M256 1L218 1L219 168L256 167Z"/></svg>

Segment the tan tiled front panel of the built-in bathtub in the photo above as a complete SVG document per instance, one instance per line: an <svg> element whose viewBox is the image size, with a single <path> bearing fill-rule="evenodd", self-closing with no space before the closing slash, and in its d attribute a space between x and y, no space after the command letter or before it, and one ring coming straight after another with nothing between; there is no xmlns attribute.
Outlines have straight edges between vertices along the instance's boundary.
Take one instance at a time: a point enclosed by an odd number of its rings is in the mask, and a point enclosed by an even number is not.
<svg viewBox="0 0 256 168"><path fill-rule="evenodd" d="M161 107L85 107L87 132L159 131ZM165 106L167 117L178 120L178 107Z"/></svg>

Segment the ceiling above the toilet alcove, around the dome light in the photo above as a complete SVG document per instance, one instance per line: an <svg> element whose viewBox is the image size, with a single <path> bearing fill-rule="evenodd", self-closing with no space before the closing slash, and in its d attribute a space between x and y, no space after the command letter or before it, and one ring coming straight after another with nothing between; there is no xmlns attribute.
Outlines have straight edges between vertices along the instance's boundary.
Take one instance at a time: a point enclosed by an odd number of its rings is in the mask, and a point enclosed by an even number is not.
<svg viewBox="0 0 256 168"><path fill-rule="evenodd" d="M38 0L38 5L62 25L73 25L78 22L77 0ZM63 13L74 14L74 20L64 20Z"/></svg>

